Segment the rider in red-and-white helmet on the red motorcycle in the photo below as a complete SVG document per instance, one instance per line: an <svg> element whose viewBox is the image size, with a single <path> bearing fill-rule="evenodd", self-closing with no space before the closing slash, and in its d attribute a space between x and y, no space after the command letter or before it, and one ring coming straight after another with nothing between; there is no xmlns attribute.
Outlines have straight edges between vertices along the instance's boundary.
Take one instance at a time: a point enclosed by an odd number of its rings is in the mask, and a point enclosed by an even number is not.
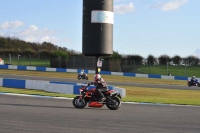
<svg viewBox="0 0 200 133"><path fill-rule="evenodd" d="M91 84L94 84L96 86L96 91L100 95L99 102L103 102L104 100L106 100L102 91L108 90L108 86L106 82L103 80L103 78L101 78L100 74L94 75L94 82L88 83L88 85L91 85Z"/></svg>

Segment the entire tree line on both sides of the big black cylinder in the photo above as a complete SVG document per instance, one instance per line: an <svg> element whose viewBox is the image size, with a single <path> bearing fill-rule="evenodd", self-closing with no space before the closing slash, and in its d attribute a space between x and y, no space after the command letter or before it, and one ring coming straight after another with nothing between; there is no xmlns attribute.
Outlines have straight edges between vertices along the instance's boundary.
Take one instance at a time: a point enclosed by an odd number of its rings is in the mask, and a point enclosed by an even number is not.
<svg viewBox="0 0 200 133"><path fill-rule="evenodd" d="M35 43L35 42L26 42L18 38L12 37L2 37L0 36L0 55L22 55L22 56L31 56L32 58L68 58L70 55L82 55L81 52L70 50L66 47L59 47L50 42ZM173 62L174 65L180 64L190 64L198 65L200 59L193 55L188 57L181 57L175 55L170 57L168 55L160 55L156 58L153 55L149 55L146 59L138 54L128 54L121 55L117 51L113 51L113 54L110 57L111 60L119 60L123 64L135 64L135 65L166 65L169 62Z"/></svg>

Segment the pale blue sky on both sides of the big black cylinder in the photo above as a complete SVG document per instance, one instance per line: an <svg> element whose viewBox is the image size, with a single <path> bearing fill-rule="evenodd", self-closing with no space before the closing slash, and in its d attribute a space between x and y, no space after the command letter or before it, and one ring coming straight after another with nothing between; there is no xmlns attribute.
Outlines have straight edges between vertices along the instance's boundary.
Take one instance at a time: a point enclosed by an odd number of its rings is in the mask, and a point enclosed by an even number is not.
<svg viewBox="0 0 200 133"><path fill-rule="evenodd" d="M0 0L0 36L82 52L83 0ZM199 54L200 0L114 0L113 50Z"/></svg>

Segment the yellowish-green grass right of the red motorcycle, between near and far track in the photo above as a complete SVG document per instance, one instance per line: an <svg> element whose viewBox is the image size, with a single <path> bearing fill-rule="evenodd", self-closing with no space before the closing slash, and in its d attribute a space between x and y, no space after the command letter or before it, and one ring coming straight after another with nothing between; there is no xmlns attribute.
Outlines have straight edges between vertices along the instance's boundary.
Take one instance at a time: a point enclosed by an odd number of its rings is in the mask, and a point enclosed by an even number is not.
<svg viewBox="0 0 200 133"><path fill-rule="evenodd" d="M179 105L200 105L199 90L173 90L161 88L126 87L125 102L149 102Z"/></svg>

